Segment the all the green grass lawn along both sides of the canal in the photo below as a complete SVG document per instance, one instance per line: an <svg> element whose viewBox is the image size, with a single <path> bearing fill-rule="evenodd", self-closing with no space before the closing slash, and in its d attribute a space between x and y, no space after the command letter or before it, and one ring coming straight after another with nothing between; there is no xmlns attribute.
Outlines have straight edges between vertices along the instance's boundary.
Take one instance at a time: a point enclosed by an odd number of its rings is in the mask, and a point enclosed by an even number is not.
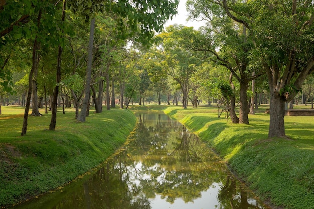
<svg viewBox="0 0 314 209"><path fill-rule="evenodd" d="M249 115L249 125L232 124L217 107L183 109L170 105L131 105L131 111L164 111L198 134L260 198L276 207L314 208L314 116L285 116L289 138L268 139L267 105ZM297 105L295 109L310 108ZM0 115L0 206L55 189L99 165L126 140L136 123L128 110L90 113L85 123L74 110L29 117L21 137L24 108L2 107ZM44 111L42 111L44 112ZM118 130L118 131L117 131Z"/></svg>

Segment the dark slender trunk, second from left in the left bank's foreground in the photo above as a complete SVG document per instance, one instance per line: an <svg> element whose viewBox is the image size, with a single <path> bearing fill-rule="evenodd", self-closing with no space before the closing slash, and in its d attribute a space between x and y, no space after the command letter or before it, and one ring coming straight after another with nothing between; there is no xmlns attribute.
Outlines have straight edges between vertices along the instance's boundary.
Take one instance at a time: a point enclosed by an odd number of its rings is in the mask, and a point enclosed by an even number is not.
<svg viewBox="0 0 314 209"><path fill-rule="evenodd" d="M66 9L66 1L63 2L62 22L65 21L65 9ZM58 60L57 60L57 79L56 79L55 90L53 93L53 100L52 100L52 107L51 107L52 112L51 112L49 130L55 130L56 122L57 122L57 99L58 99L58 94L59 94L59 84L61 81L61 56L62 56L62 47L59 44Z"/></svg>

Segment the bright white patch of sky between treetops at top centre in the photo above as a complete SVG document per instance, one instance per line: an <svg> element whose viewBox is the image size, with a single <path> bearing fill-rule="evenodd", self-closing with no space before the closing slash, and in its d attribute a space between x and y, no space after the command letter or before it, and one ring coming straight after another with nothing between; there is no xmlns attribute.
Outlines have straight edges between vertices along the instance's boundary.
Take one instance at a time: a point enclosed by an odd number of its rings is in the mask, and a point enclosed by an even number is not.
<svg viewBox="0 0 314 209"><path fill-rule="evenodd" d="M168 20L165 24L165 28L178 24L178 25L184 25L188 27L194 27L194 29L198 29L200 26L204 25L197 21L189 21L187 22L187 18L189 16L189 13L186 11L186 2L187 0L180 0L179 7L178 7L178 15L174 16L172 20Z"/></svg>

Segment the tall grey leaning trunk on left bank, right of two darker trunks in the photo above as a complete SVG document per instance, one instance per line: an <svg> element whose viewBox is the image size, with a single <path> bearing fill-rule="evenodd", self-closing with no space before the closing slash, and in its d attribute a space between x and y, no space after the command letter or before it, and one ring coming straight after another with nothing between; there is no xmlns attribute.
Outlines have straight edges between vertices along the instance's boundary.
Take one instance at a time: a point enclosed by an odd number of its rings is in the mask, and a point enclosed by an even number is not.
<svg viewBox="0 0 314 209"><path fill-rule="evenodd" d="M84 99L82 103L82 108L79 117L77 118L80 122L85 122L86 120L86 111L87 106L90 100L90 82L92 74L92 58L93 58L93 44L94 44L94 30L95 30L95 18L90 22L90 34L89 34L89 46L88 46L88 59L87 59L87 68L86 68L86 83L84 90Z"/></svg>

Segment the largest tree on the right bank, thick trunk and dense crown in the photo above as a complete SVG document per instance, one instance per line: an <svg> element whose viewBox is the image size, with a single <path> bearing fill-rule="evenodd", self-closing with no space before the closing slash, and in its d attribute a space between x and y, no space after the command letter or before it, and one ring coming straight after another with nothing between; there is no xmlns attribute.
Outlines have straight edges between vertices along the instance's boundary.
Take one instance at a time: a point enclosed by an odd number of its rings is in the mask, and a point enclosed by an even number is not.
<svg viewBox="0 0 314 209"><path fill-rule="evenodd" d="M208 1L249 30L270 91L268 137L284 137L284 105L314 71L314 12L310 1Z"/></svg>

